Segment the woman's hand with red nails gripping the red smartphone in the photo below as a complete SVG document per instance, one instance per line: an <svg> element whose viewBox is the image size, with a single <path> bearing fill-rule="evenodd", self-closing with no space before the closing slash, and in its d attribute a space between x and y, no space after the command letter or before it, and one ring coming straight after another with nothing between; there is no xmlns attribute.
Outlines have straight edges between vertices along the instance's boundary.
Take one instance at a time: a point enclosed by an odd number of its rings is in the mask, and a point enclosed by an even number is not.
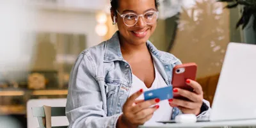
<svg viewBox="0 0 256 128"><path fill-rule="evenodd" d="M194 88L194 92L189 92L188 90L183 90L181 88L173 88L173 94L179 94L191 101L170 99L170 106L179 108L184 114L195 114L197 116L200 114L200 109L204 99L202 86L191 79L187 79L186 84Z"/></svg>

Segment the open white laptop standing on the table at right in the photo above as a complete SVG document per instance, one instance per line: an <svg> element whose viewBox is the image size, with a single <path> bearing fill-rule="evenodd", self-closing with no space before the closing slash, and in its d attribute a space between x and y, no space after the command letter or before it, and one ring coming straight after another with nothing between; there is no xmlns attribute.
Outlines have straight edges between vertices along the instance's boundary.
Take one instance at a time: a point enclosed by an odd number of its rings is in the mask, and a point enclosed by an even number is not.
<svg viewBox="0 0 256 128"><path fill-rule="evenodd" d="M220 79L205 121L256 119L256 45L228 44ZM174 120L162 123L174 123Z"/></svg>

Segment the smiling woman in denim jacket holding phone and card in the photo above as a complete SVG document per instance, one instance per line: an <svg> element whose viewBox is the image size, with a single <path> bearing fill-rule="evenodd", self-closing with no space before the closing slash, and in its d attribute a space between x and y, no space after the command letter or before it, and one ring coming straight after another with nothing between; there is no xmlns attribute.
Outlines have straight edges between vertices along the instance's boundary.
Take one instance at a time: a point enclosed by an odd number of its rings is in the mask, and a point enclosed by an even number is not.
<svg viewBox="0 0 256 128"><path fill-rule="evenodd" d="M118 31L110 40L83 51L72 68L66 115L69 127L138 127L170 120L181 113L209 115L196 81L194 92L173 88L191 100L144 101L145 90L172 86L172 68L180 61L158 51L148 38L156 29L157 0L112 0ZM207 104L207 105L205 105Z"/></svg>

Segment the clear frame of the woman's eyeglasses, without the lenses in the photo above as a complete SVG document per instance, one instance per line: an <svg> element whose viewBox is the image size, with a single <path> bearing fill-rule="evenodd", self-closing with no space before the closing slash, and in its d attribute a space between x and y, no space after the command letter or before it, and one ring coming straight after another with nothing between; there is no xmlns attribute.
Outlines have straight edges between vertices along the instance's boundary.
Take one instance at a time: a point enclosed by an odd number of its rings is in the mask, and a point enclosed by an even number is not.
<svg viewBox="0 0 256 128"><path fill-rule="evenodd" d="M154 13L156 13L156 19L158 19L158 13L159 13L158 11L150 10L150 11L148 11L148 12L154 12ZM121 14L121 13L118 12L118 10L116 10L116 13L118 13L118 14L120 15L120 17L123 18L124 24L125 24L126 26L128 26L128 27L132 27L132 26L134 26L135 24L137 24L137 22L138 22L138 20L140 19L140 17L142 17L143 21L145 22L144 16L145 16L145 14L148 13L148 12L145 12L144 14L140 14L140 15L138 15L138 14L136 14L136 13L132 13L132 12ZM124 20L124 17L125 17L126 15L129 15L129 14L137 15L136 22L135 22L133 25L131 25L131 26L128 25L128 24L126 24L126 23L125 23L125 20ZM145 23L148 24L147 22L145 22ZM152 23L152 24L154 24L154 23ZM150 25L150 24L148 24L148 25Z"/></svg>

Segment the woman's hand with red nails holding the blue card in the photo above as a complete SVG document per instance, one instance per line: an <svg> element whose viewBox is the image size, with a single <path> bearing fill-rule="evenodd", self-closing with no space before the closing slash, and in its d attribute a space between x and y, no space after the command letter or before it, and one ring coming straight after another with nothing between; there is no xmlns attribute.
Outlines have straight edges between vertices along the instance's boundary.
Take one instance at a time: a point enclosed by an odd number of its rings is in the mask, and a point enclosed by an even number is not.
<svg viewBox="0 0 256 128"><path fill-rule="evenodd" d="M141 89L126 100L123 114L118 118L117 127L138 127L152 118L159 106L150 106L157 104L160 100L136 100L142 93L143 90Z"/></svg>

